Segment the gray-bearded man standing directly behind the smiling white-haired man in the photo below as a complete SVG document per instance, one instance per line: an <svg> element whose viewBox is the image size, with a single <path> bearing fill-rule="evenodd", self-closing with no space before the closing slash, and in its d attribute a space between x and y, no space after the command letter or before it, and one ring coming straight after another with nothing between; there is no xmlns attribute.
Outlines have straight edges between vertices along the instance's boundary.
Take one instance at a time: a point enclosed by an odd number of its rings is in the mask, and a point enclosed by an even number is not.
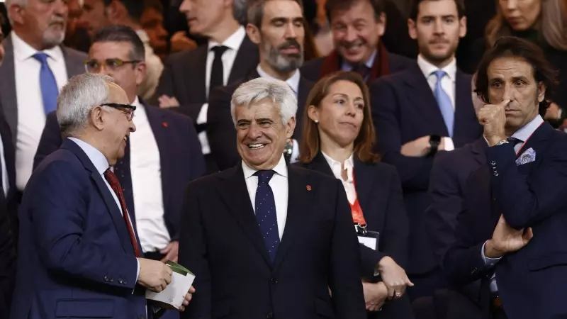
<svg viewBox="0 0 567 319"><path fill-rule="evenodd" d="M248 6L246 31L259 47L260 63L247 77L210 94L207 135L210 150L219 169L233 167L240 160L235 145L236 131L230 114L230 96L243 82L257 77L285 81L296 94L296 130L286 145L286 159L296 162L297 140L301 136L301 116L313 82L301 77L303 64L303 10L298 0L255 0Z"/></svg>

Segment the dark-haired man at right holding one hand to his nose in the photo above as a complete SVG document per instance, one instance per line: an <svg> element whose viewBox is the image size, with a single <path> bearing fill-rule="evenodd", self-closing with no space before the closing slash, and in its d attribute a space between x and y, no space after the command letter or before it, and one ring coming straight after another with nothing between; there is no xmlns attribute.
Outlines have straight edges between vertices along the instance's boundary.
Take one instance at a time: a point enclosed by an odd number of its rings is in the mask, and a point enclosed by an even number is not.
<svg viewBox="0 0 567 319"><path fill-rule="evenodd" d="M537 45L505 37L476 76L487 164L471 174L456 243L444 257L454 284L481 279L492 318L566 318L567 135L545 123L554 69Z"/></svg>

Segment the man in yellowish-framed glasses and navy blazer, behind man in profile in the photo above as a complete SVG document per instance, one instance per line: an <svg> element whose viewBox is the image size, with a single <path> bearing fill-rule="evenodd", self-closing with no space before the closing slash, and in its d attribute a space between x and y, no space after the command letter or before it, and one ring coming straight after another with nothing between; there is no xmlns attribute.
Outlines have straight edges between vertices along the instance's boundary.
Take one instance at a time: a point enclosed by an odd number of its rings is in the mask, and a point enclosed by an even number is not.
<svg viewBox="0 0 567 319"><path fill-rule="evenodd" d="M123 186L128 211L140 234L145 256L176 260L183 192L189 181L203 176L201 145L191 119L149 106L136 96L143 79L144 47L135 31L125 26L103 28L89 50L87 72L108 74L137 106L137 134L130 136L125 156L114 167ZM135 65L125 61L138 60ZM61 145L55 113L47 124L34 166Z"/></svg>

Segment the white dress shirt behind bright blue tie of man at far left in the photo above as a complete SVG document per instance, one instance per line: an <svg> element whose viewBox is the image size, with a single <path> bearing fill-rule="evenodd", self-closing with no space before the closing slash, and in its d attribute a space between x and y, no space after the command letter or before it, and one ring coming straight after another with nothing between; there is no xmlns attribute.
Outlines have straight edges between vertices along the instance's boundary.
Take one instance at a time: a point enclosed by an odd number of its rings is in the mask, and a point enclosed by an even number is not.
<svg viewBox="0 0 567 319"><path fill-rule="evenodd" d="M39 52L12 31L18 127L16 130L16 186L23 190L33 167L33 157L45 127L45 109L40 86L41 63L33 55ZM67 84L67 67L59 46L43 50L57 87Z"/></svg>

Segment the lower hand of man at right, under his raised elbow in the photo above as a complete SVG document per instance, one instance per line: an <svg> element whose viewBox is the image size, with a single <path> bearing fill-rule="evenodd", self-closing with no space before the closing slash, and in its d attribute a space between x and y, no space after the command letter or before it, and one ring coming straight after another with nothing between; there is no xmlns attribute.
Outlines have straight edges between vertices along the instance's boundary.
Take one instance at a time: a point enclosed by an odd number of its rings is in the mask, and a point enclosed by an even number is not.
<svg viewBox="0 0 567 319"><path fill-rule="evenodd" d="M534 233L532 228L527 230L515 230L511 228L503 215L500 215L498 224L494 228L492 239L488 240L484 245L484 255L488 258L500 258L507 252L517 252L532 240Z"/></svg>

